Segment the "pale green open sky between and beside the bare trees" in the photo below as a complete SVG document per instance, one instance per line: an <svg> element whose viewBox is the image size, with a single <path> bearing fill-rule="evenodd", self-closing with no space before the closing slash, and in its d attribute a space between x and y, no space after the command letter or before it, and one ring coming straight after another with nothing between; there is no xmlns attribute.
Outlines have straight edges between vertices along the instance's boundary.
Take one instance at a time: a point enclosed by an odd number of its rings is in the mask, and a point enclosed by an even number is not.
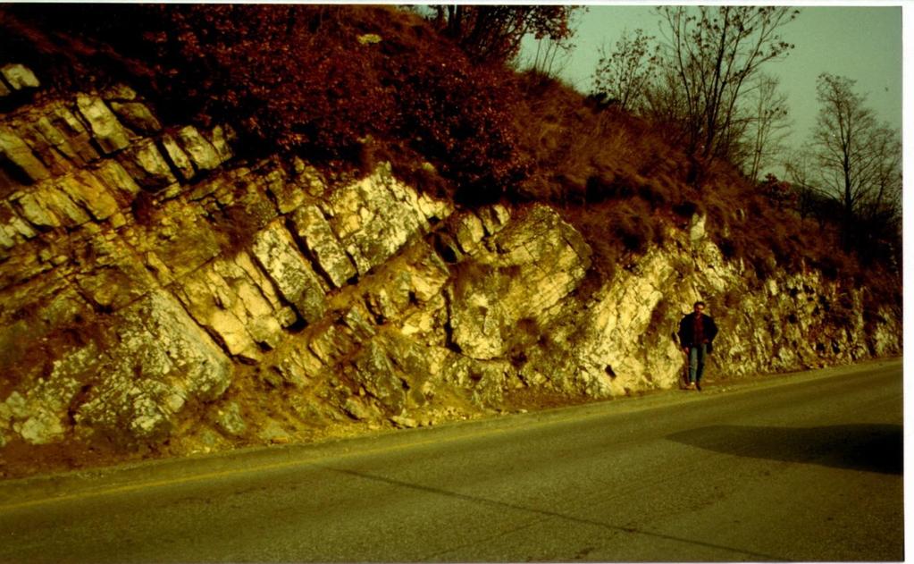
<svg viewBox="0 0 914 564"><path fill-rule="evenodd" d="M623 31L628 29L631 33L639 27L647 35L661 37L660 16L654 14L654 7L628 4L588 5L588 11L578 16L575 49L564 64L556 65L561 69L559 78L588 93L601 45L611 50ZM786 58L763 67L764 72L780 78L780 90L788 97L793 122L789 143L802 144L813 130L819 112L816 78L823 72L856 80L856 92L866 95L867 107L876 112L880 121L900 130L900 5L804 4L796 5L800 15L781 28L781 37L795 48Z"/></svg>

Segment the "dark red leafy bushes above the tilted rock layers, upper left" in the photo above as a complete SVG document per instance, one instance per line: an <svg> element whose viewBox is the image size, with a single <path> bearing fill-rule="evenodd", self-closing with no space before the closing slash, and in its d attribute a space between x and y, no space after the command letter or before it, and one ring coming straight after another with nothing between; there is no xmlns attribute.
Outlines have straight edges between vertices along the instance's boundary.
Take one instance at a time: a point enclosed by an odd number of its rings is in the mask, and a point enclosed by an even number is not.
<svg viewBox="0 0 914 564"><path fill-rule="evenodd" d="M104 62L112 80L126 72L143 82L175 122L237 124L251 152L278 148L359 165L369 140L388 154L401 145L474 202L496 199L526 176L510 71L471 62L419 16L388 6L104 10L106 17L78 5L13 12L68 36L69 46L110 46L93 62Z"/></svg>

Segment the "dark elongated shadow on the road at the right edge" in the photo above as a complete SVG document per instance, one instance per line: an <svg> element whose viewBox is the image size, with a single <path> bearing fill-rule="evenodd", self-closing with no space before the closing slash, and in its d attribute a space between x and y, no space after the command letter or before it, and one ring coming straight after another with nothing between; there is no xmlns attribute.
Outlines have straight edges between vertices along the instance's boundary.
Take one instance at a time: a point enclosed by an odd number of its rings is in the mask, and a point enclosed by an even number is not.
<svg viewBox="0 0 914 564"><path fill-rule="evenodd" d="M902 474L901 425L749 427L712 425L667 439L713 452L789 463L822 464L847 470Z"/></svg>

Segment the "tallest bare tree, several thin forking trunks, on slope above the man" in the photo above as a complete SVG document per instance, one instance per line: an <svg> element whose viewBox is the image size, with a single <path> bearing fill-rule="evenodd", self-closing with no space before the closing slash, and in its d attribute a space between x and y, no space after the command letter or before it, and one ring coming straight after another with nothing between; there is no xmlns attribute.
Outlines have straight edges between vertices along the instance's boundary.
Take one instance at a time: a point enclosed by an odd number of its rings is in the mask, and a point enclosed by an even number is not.
<svg viewBox="0 0 914 564"><path fill-rule="evenodd" d="M662 6L664 59L675 71L686 144L705 161L729 157L739 139L738 101L760 66L793 48L778 35L798 14L784 6Z"/></svg>

